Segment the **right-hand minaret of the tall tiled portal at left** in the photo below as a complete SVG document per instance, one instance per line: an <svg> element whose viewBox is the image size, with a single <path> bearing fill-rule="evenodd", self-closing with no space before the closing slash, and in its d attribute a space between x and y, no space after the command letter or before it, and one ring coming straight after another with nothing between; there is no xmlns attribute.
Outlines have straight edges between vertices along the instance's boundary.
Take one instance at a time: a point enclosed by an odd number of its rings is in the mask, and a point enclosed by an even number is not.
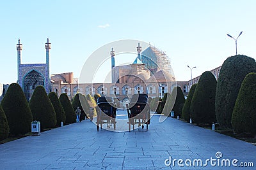
<svg viewBox="0 0 256 170"><path fill-rule="evenodd" d="M50 80L50 50L51 50L51 43L49 43L49 38L47 38L47 42L45 43L45 50L46 50L46 71L47 73L45 74L45 90L47 93L50 92L51 89L51 80Z"/></svg>

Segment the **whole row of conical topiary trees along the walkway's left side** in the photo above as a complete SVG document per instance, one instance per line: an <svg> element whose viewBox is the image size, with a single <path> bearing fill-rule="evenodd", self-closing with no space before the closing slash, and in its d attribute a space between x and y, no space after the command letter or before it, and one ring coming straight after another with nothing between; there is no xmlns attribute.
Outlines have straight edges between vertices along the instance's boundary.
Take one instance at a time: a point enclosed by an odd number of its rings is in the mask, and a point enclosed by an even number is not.
<svg viewBox="0 0 256 170"><path fill-rule="evenodd" d="M17 136L31 132L33 120L40 121L42 129L60 127L61 122L76 122L73 107L80 106L83 109L81 98L83 103L87 103L85 96L77 94L71 104L67 94L61 94L60 99L54 92L47 96L44 87L38 86L28 103L20 85L12 83L0 105L0 140L9 134ZM82 112L82 120L84 117L85 113Z"/></svg>

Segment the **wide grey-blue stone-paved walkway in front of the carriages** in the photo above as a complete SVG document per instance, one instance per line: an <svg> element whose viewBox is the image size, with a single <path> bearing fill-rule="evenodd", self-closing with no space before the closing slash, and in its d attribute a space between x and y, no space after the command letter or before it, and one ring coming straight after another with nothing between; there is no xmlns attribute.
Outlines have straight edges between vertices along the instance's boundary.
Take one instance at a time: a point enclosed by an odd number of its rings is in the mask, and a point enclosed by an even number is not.
<svg viewBox="0 0 256 170"><path fill-rule="evenodd" d="M122 112L122 111L121 111ZM116 124L118 126L118 123ZM128 126L128 125L127 125ZM216 152L222 157L216 158ZM220 154L220 155L221 155ZM219 158L220 155L217 155ZM169 159L172 157L172 164ZM211 158L215 159L212 160ZM173 160L176 159L173 166ZM178 165L178 159L180 164ZM207 161L207 167L197 166ZM218 166L230 159L231 167ZM152 117L148 132L97 132L90 120L0 145L0 169L255 169L256 146L174 118ZM166 161L165 161L166 160ZM192 166L189 165L191 161ZM228 161L228 160L227 160ZM195 162L195 166L193 166ZM217 164L217 166L211 166Z"/></svg>

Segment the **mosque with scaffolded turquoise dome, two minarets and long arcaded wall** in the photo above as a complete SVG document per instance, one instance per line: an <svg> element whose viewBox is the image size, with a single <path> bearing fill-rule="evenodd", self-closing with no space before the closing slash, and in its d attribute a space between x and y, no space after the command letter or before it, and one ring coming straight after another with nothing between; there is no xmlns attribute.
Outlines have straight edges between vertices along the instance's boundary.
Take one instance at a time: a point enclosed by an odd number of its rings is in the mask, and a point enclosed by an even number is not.
<svg viewBox="0 0 256 170"><path fill-rule="evenodd" d="M170 60L165 53L154 46L149 46L142 52L140 43L137 52L132 64L115 66L115 51L111 49L111 83L78 83L73 78L73 73L54 74L51 76L52 90L58 96L66 93L70 99L79 92L128 101L129 97L138 93L145 93L153 98L163 97L164 93L171 93L173 87L180 86L184 95L188 95L188 81L175 81Z"/></svg>

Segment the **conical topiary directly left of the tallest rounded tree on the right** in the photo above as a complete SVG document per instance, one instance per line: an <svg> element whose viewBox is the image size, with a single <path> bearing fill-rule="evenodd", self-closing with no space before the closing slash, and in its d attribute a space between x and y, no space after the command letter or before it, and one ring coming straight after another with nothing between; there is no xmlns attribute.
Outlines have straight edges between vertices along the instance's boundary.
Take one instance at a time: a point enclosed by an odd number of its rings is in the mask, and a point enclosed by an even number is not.
<svg viewBox="0 0 256 170"><path fill-rule="evenodd" d="M200 76L189 110L196 124L212 124L216 121L216 84L216 78L210 71L205 71Z"/></svg>

